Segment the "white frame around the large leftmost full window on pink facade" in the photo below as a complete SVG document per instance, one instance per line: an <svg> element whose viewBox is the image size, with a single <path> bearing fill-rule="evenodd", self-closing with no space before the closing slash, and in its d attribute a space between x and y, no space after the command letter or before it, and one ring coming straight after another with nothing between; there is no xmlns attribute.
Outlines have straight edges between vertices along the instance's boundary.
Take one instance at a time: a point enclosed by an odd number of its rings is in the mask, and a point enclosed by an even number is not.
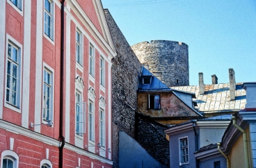
<svg viewBox="0 0 256 168"><path fill-rule="evenodd" d="M17 62L14 62L17 66L17 95L16 95L16 104L12 104L8 101L6 101L7 97L7 70L8 70L8 62L10 61L10 58L8 58L8 45L12 45L17 49ZM11 63L13 65L13 63ZM11 69L10 69L11 71ZM21 100L22 100L22 44L19 44L13 37L10 37L10 35L6 34L6 81L5 81L5 96L4 96L4 106L6 108L10 108L11 110L14 110L15 112L21 112ZM12 72L11 72L12 73ZM12 83L11 83L12 84ZM10 85L10 88L12 85ZM10 96L9 96L10 99Z"/></svg>

